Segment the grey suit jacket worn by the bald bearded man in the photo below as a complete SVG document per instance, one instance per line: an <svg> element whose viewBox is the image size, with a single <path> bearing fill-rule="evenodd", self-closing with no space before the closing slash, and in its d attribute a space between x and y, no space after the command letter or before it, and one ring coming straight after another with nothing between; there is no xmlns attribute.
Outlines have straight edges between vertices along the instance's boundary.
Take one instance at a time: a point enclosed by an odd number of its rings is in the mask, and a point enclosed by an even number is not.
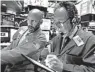
<svg viewBox="0 0 95 72"><path fill-rule="evenodd" d="M27 26L21 27L13 36L13 42L10 46L4 48L1 51L1 64L13 64L15 67L15 64L19 64L18 68L21 69L20 62L24 61L25 59L21 56L21 53L24 55L28 55L31 58L37 60L38 55L37 51L40 49L43 49L46 43L45 35L42 33L41 29L38 29L34 33L29 34L25 39L20 42L23 35L28 30ZM20 43L19 43L20 42ZM24 65L24 62L22 64L22 69L26 69L28 67L31 68L31 66L26 67L27 65ZM29 63L31 64L31 63ZM23 68L24 67L24 68ZM21 71L20 71L21 72Z"/></svg>

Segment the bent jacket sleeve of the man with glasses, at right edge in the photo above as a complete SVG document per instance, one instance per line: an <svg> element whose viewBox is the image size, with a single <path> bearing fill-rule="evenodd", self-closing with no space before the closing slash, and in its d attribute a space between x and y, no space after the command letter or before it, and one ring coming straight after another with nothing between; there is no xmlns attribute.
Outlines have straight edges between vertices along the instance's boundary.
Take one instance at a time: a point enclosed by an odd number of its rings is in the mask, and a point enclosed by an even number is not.
<svg viewBox="0 0 95 72"><path fill-rule="evenodd" d="M91 36L86 44L86 53L82 60L84 64L66 64L63 63L63 72L95 72L95 36Z"/></svg>

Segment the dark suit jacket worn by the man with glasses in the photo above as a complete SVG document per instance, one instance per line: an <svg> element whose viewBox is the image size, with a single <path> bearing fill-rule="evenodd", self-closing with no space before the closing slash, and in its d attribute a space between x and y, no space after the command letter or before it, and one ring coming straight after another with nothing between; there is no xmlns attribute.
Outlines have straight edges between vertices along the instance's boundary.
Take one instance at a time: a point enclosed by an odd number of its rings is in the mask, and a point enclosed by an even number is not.
<svg viewBox="0 0 95 72"><path fill-rule="evenodd" d="M56 36L51 50L63 61L63 72L95 72L95 35L78 30L76 35L84 44L77 46L73 39L60 51L61 36ZM75 36L76 36L75 35Z"/></svg>

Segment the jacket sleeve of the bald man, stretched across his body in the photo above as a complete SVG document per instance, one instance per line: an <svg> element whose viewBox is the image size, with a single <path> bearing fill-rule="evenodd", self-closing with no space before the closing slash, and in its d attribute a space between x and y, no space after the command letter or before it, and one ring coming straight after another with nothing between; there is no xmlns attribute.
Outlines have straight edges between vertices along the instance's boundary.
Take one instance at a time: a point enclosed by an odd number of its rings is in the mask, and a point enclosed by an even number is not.
<svg viewBox="0 0 95 72"><path fill-rule="evenodd" d="M32 52L37 51L39 48L43 48L46 43L46 38L43 34L40 34L36 42L27 42L23 45L19 45L11 50L4 50L1 52L1 64L12 63L15 64L24 60L21 53L29 55Z"/></svg>

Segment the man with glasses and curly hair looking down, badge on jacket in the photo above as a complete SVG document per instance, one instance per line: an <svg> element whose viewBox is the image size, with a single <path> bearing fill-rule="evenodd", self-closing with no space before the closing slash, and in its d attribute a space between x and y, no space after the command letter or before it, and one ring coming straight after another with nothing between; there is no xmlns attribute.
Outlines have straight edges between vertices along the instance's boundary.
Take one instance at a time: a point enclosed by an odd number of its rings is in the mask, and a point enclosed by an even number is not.
<svg viewBox="0 0 95 72"><path fill-rule="evenodd" d="M74 4L59 3L54 24L61 35L53 38L46 65L57 72L95 72L95 36L78 29Z"/></svg>

